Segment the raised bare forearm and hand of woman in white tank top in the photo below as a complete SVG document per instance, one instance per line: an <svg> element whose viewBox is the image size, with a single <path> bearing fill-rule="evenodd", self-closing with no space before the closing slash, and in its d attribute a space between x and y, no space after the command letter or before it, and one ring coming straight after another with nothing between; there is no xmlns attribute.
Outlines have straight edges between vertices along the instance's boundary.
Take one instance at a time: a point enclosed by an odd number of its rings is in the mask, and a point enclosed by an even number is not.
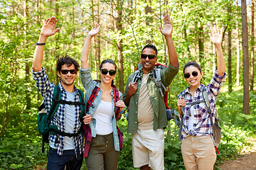
<svg viewBox="0 0 256 170"><path fill-rule="evenodd" d="M100 31L100 25L96 24L92 26L92 30L87 34L87 38L85 39L85 44L82 47L82 56L81 56L81 69L89 68L88 57L89 57L89 48L92 37L97 35Z"/></svg>

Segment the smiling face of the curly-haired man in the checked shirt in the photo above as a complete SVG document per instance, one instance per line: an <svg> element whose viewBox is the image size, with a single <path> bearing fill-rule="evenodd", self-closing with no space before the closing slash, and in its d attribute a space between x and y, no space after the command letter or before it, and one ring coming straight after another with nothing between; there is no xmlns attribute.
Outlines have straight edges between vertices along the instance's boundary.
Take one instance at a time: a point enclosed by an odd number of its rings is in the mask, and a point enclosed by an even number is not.
<svg viewBox="0 0 256 170"><path fill-rule="evenodd" d="M64 64L61 66L61 70L71 70L71 69L75 69L75 65L72 64L70 65L70 67L67 66L67 64ZM75 77L77 76L77 72L75 72L75 74L71 74L70 72L68 72L68 74L63 74L62 72L58 71L58 77L60 77L60 82L63 85L63 87L65 88L65 86L73 86L74 81L75 81Z"/></svg>

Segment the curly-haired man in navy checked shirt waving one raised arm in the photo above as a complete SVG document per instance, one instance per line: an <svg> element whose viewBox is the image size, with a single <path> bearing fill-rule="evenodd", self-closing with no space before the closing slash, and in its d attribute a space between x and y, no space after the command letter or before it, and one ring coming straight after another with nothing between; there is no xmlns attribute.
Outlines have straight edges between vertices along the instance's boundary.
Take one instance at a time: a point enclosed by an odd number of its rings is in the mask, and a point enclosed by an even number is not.
<svg viewBox="0 0 256 170"><path fill-rule="evenodd" d="M39 40L36 43L36 50L33 56L33 79L36 81L38 91L43 96L46 110L49 113L53 102L53 91L55 84L48 80L46 69L42 67L43 48L46 39L54 35L59 28L54 29L57 23L55 17L48 18L43 24ZM75 77L79 69L79 64L71 57L65 56L57 61L57 74L60 77L61 100L80 102L78 89L74 85ZM55 125L58 131L68 134L75 134L73 137L62 135L49 135L49 157L47 169L80 169L82 166L82 135L78 133L81 123L79 119L80 106L61 104L50 121L50 125ZM90 115L83 117L85 124L90 123Z"/></svg>

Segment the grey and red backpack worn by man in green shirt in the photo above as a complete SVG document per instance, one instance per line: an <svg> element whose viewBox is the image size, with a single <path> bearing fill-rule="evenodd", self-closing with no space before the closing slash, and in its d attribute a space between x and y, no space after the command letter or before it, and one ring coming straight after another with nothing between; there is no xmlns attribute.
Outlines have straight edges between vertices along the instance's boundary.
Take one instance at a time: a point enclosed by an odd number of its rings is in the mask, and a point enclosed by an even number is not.
<svg viewBox="0 0 256 170"><path fill-rule="evenodd" d="M179 125L180 124L180 119L178 118L178 112L175 109L171 109L168 106L168 91L169 91L169 86L166 87L164 86L164 84L161 82L161 69L166 69L166 65L164 64L160 64L160 63L156 63L155 67L152 71L152 77L149 77L149 79L152 79L153 81L155 81L156 86L159 88L160 94L161 96L164 98L164 104L166 106L166 117L167 120L171 120L174 119L175 120L175 124ZM141 79L142 77L140 76L140 70L142 69L142 63L138 64L137 70L134 72L134 78L132 79L131 83L136 82L138 79ZM164 89L164 93L162 91L162 88ZM126 118L128 119L128 113L126 115Z"/></svg>

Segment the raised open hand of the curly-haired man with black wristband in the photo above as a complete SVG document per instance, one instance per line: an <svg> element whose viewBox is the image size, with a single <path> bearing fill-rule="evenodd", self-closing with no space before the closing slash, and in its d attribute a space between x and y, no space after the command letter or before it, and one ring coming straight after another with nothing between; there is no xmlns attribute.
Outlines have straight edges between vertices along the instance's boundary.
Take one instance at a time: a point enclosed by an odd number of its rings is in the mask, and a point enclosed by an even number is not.
<svg viewBox="0 0 256 170"><path fill-rule="evenodd" d="M55 18L55 16L48 18L43 24L43 28L41 29L40 34L46 36L46 38L50 37L51 35L55 35L55 33L60 30L60 28L56 28L55 30L53 30L57 21L58 20Z"/></svg>

